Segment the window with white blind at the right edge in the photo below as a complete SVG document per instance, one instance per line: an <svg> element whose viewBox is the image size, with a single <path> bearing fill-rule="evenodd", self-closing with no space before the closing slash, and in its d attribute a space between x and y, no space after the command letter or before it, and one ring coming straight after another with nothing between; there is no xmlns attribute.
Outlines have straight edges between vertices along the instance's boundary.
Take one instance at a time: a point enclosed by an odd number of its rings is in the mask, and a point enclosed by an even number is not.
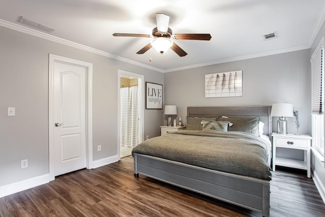
<svg viewBox="0 0 325 217"><path fill-rule="evenodd" d="M325 160L324 154L324 87L323 87L323 50L324 39L316 47L311 57L311 123L312 150L319 160Z"/></svg>

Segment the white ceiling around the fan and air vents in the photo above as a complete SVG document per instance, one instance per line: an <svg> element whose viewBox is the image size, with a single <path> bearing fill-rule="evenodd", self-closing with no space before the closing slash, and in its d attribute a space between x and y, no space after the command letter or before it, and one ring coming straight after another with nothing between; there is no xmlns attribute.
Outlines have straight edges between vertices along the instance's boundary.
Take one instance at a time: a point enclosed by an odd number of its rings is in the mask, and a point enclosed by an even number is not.
<svg viewBox="0 0 325 217"><path fill-rule="evenodd" d="M210 33L210 41L175 40L188 55L154 49L136 54L151 34L155 13L170 15L173 33ZM0 19L20 16L55 28L50 35L169 72L310 48L325 18L323 0L0 0ZM265 41L262 35L277 32ZM152 61L149 61L149 58Z"/></svg>

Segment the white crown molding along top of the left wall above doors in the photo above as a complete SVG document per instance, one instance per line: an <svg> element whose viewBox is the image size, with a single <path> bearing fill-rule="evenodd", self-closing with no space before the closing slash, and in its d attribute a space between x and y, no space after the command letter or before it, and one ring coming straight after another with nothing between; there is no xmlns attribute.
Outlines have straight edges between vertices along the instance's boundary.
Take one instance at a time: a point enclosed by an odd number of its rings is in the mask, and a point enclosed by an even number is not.
<svg viewBox="0 0 325 217"><path fill-rule="evenodd" d="M106 56L106 57L109 57L109 58L112 58L112 59L123 61L124 63L136 65L136 66L143 67L143 68L150 69L150 70L157 71L157 72L164 72L163 69L158 69L158 68L146 65L146 64L139 63L139 62L134 61L132 59L127 59L127 58L117 56L117 55L114 55L114 54L111 54L111 53L108 53L108 52L105 52L105 51L102 51L102 50L99 50L99 49L95 49L95 48L88 47L88 46L85 46L85 45L82 45L82 44L78 44L78 43L75 43L75 42L72 42L72 41L61 39L61 38L58 38L56 36L52 36L52 35L40 32L38 30L31 29L31 28L28 28L28 27L25 27L25 26L22 26L22 25L18 25L16 23L12 23L12 22L9 22L9 21L3 20L3 19L0 19L0 25L4 26L4 27L7 27L7 28L10 28L10 29L13 29L13 30L16 30L16 31L21 32L21 33L31 35L31 36L36 36L36 37L46 39L46 40L49 40L49 41L52 41L52 42L56 42L56 43L67 45L67 46L77 48L77 49L80 49L80 50L88 51L90 53L95 53L95 54Z"/></svg>

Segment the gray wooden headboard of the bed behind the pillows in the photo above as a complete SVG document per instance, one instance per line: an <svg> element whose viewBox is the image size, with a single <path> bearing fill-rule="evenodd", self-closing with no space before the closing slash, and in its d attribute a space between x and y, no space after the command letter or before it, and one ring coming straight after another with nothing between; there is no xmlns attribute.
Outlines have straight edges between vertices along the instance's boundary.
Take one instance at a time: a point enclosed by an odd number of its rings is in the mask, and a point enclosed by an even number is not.
<svg viewBox="0 0 325 217"><path fill-rule="evenodd" d="M272 106L208 106L208 107L187 107L188 117L261 117L260 121L264 122L264 134L272 134Z"/></svg>

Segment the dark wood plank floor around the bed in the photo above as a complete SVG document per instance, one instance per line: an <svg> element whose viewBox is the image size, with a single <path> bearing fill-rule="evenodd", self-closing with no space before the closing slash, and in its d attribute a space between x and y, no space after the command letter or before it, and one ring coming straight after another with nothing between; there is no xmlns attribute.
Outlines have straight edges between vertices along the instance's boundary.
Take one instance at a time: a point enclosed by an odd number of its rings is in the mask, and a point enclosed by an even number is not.
<svg viewBox="0 0 325 217"><path fill-rule="evenodd" d="M325 216L312 179L273 172L271 216ZM0 198L0 216L261 216L225 202L133 175L133 158L56 177Z"/></svg>

